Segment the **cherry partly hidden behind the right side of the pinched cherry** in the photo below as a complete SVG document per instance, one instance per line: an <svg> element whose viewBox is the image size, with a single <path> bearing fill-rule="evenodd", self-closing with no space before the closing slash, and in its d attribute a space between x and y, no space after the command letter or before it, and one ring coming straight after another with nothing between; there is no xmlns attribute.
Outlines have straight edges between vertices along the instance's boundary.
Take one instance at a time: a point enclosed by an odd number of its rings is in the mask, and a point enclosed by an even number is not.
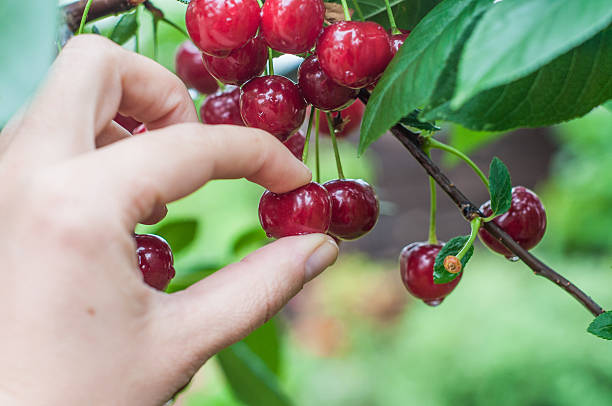
<svg viewBox="0 0 612 406"><path fill-rule="evenodd" d="M368 233L378 220L378 198L361 179L336 179L323 184L332 202L329 233L354 240Z"/></svg>

